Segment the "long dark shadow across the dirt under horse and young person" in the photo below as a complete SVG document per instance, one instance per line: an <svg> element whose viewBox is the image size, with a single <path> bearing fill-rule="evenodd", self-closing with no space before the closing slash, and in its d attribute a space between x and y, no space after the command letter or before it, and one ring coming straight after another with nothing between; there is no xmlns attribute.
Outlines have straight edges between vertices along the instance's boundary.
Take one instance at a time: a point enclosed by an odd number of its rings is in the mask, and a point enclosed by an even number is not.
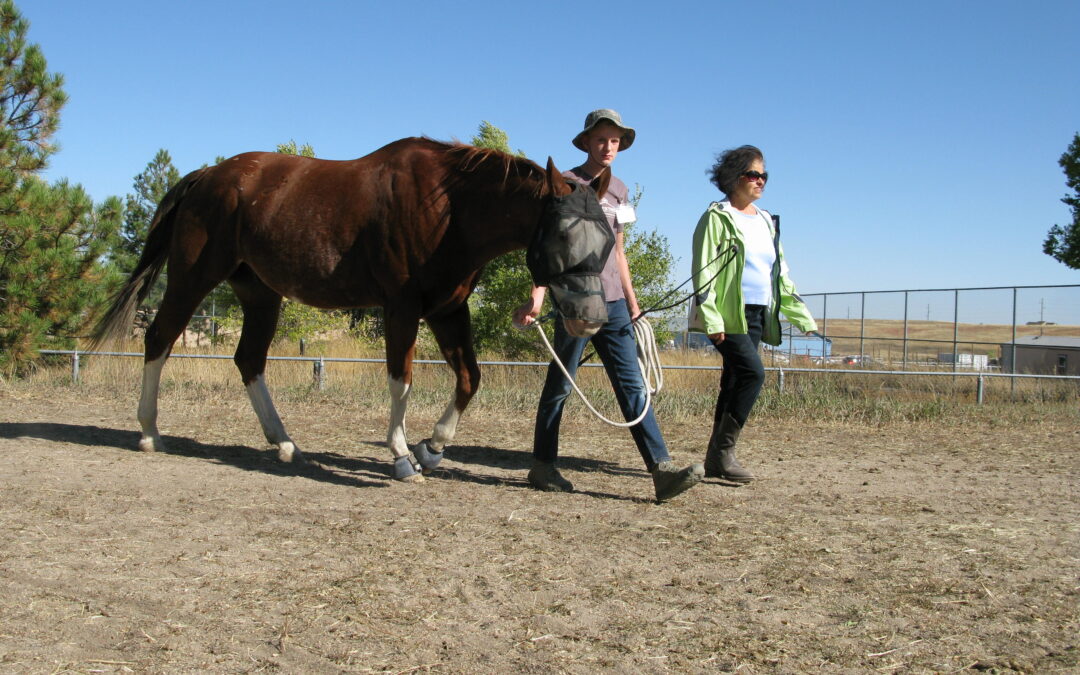
<svg viewBox="0 0 1080 675"><path fill-rule="evenodd" d="M0 422L0 438L32 437L56 443L71 443L85 446L105 446L138 451L139 433L107 427L90 424L66 424L62 422ZM310 451L305 449L307 459L303 463L284 463L278 460L273 449L255 449L244 445L205 444L194 438L163 435L163 454L180 457L191 457L215 461L235 467L244 471L281 476L302 476L313 481L353 487L388 487L392 481L390 472L392 464L372 457L355 457L334 451ZM386 451L383 442L366 442L364 445L380 448ZM481 445L455 445L447 448L447 458L453 462L436 469L432 477L449 481L461 481L488 486L514 486L531 489L526 480L526 472L532 465L532 454L524 450L505 450ZM644 471L629 469L615 462L569 457L561 460L561 465L573 472L603 472L613 475L640 475L648 477ZM488 467L513 471L514 476L507 478L483 471L473 471L472 467ZM637 501L637 498L610 492L582 491L606 499L625 499Z"/></svg>

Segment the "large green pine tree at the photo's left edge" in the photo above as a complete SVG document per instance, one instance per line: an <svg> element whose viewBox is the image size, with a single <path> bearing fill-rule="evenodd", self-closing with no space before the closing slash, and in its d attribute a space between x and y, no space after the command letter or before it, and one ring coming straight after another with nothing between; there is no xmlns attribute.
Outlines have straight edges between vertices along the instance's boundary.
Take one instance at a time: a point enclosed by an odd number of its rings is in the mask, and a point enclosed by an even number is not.
<svg viewBox="0 0 1080 675"><path fill-rule="evenodd" d="M42 347L70 347L118 281L102 256L122 217L79 186L37 177L55 151L64 79L26 41L27 22L0 1L0 373L17 374Z"/></svg>

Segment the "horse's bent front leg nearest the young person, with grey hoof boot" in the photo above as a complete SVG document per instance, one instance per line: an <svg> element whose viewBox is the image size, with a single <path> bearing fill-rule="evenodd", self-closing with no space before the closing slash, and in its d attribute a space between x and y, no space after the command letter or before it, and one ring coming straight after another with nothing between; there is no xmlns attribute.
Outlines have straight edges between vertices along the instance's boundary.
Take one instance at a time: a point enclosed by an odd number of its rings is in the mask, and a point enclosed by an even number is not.
<svg viewBox="0 0 1080 675"><path fill-rule="evenodd" d="M421 441L413 448L413 454L426 472L430 472L442 461L446 444L457 434L461 415L480 389L480 366L472 345L469 306L462 305L449 314L430 316L428 326L435 335L443 357L454 370L457 386L454 397L435 423L431 438Z"/></svg>

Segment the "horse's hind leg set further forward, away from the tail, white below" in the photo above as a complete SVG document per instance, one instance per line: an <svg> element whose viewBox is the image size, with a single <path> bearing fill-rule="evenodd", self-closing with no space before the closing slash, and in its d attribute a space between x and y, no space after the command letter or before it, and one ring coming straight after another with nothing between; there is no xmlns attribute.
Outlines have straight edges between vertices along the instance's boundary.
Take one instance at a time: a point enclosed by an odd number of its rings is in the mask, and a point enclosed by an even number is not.
<svg viewBox="0 0 1080 675"><path fill-rule="evenodd" d="M240 370L247 397L259 419L262 435L276 446L278 459L283 462L302 462L303 455L285 432L285 426L273 405L266 383L267 352L278 328L282 298L264 284L249 268L242 267L229 280L244 311L244 324L233 362Z"/></svg>

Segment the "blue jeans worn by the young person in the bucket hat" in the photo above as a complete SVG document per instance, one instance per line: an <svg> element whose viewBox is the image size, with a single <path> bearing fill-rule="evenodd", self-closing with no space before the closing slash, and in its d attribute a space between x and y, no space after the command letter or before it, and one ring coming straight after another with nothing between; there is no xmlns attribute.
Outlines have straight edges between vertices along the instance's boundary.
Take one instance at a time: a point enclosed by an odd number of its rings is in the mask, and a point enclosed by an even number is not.
<svg viewBox="0 0 1080 675"><path fill-rule="evenodd" d="M555 353L572 377L578 370L578 362L581 361L585 343L592 340L596 353L604 363L604 369L607 370L608 379L611 380L623 419L630 421L636 419L645 407L645 382L637 365L634 329L630 323L626 300L608 302L607 311L607 323L592 338L576 338L566 332L561 320L556 321ZM571 391L570 381L552 362L548 366L548 379L540 393L536 431L532 436L532 455L538 461L553 463L558 457L558 426L563 420L566 397ZM630 434L634 437L637 450L650 471L658 463L671 459L663 436L660 435L660 426L657 423L652 406L649 406L645 419L630 428Z"/></svg>

